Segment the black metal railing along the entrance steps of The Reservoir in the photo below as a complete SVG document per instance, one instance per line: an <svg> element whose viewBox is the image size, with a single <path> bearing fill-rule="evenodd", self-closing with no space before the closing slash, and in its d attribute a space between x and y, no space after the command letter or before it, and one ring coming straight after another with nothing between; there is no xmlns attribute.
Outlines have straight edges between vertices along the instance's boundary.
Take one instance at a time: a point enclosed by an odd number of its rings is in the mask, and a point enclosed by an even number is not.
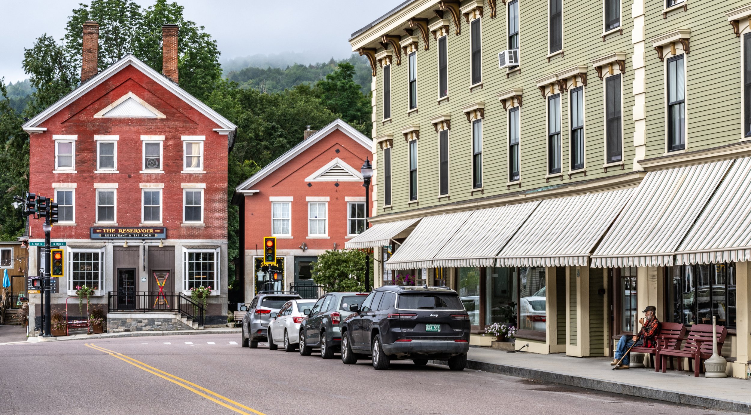
<svg viewBox="0 0 751 415"><path fill-rule="evenodd" d="M109 292L107 311L172 311L204 325L206 310L201 301L196 301L182 292Z"/></svg>

